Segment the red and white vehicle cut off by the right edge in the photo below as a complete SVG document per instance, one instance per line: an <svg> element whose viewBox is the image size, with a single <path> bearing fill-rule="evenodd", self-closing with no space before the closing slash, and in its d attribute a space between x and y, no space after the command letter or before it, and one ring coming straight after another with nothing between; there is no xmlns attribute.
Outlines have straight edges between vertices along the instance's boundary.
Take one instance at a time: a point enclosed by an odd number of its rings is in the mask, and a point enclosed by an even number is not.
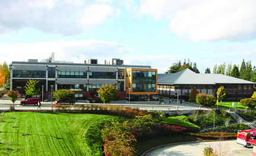
<svg viewBox="0 0 256 156"><path fill-rule="evenodd" d="M252 147L252 144L249 144L249 142L255 139L256 129L242 130L236 135L236 143L244 145L244 147Z"/></svg>

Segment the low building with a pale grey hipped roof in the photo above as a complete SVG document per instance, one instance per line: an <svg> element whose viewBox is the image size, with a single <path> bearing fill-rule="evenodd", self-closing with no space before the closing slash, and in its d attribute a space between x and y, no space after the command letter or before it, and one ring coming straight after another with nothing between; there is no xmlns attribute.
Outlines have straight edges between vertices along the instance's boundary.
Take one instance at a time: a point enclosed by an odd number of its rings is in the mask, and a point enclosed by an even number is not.
<svg viewBox="0 0 256 156"><path fill-rule="evenodd" d="M158 95L184 98L196 87L199 93L213 95L220 86L228 93L226 100L250 98L254 93L254 82L238 79L223 74L197 74L190 69L177 73L158 74Z"/></svg>

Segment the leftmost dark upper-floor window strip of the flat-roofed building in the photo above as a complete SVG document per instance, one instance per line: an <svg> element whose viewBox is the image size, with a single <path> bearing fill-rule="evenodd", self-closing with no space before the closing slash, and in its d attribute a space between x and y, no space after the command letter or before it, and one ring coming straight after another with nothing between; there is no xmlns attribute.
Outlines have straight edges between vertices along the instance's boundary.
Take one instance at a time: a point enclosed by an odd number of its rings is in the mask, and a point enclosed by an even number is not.
<svg viewBox="0 0 256 156"><path fill-rule="evenodd" d="M12 77L46 77L45 70L12 70Z"/></svg>

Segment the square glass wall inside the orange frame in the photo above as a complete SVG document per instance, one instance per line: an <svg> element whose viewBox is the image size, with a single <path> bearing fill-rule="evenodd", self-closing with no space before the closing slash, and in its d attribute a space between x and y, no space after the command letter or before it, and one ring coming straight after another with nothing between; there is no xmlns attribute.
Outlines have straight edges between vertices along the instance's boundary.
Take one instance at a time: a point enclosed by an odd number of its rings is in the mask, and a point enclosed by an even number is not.
<svg viewBox="0 0 256 156"><path fill-rule="evenodd" d="M156 71L133 71L133 92L156 92Z"/></svg>

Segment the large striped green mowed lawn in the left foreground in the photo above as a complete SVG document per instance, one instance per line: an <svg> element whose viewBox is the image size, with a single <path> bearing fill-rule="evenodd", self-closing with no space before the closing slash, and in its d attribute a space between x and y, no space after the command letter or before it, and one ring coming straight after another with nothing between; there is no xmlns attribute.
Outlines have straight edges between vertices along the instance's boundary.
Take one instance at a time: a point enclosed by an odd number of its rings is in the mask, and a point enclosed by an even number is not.
<svg viewBox="0 0 256 156"><path fill-rule="evenodd" d="M0 155L102 155L100 130L105 121L114 118L117 116L4 113L0 118Z"/></svg>

